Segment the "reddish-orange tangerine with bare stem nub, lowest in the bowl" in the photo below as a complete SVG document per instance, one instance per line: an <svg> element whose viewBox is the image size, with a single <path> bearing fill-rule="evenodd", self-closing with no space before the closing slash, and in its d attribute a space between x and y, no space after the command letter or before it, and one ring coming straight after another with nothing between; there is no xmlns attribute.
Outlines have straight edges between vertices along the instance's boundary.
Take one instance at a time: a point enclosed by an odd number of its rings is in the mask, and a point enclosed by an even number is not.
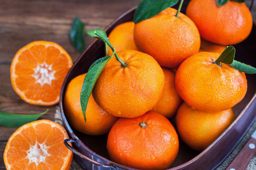
<svg viewBox="0 0 256 170"><path fill-rule="evenodd" d="M146 127L140 127L140 122ZM168 119L149 111L133 118L120 118L111 128L107 149L110 158L122 165L143 170L170 167L179 149L177 133Z"/></svg>

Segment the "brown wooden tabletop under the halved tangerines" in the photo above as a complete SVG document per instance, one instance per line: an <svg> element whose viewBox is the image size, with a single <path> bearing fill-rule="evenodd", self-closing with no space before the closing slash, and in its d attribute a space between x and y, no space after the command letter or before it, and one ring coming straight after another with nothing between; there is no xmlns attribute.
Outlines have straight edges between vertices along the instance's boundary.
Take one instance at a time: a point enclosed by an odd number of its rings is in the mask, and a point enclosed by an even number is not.
<svg viewBox="0 0 256 170"><path fill-rule="evenodd" d="M10 82L10 64L15 53L29 42L45 40L61 45L75 61L80 52L70 41L74 17L85 23L85 30L104 29L115 18L140 0L0 0L0 110L36 114L49 109L42 119L55 121L58 105L41 107L22 101ZM85 36L88 46L93 38ZM3 151L17 128L0 126L0 170L5 170Z"/></svg>

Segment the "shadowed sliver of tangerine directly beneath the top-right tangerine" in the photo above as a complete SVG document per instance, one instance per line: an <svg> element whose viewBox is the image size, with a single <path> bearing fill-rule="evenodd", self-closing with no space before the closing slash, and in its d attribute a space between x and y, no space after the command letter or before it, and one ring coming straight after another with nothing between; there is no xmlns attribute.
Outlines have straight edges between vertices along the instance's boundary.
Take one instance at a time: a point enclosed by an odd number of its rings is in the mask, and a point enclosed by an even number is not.
<svg viewBox="0 0 256 170"><path fill-rule="evenodd" d="M201 39L201 46L199 51L217 52L221 54L225 49L226 46L224 45L215 44Z"/></svg>

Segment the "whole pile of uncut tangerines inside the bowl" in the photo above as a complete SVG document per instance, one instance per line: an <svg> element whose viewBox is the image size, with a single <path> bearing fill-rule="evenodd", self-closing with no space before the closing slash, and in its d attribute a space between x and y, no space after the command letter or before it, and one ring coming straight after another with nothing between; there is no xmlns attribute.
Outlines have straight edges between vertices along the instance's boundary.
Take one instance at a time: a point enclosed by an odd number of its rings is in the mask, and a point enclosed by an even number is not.
<svg viewBox="0 0 256 170"><path fill-rule="evenodd" d="M247 92L245 74L215 60L226 45L246 39L252 24L244 3L218 7L216 0L191 0L186 15L167 8L116 26L109 41L125 64L108 61L90 96L86 122L80 104L86 74L75 77L64 96L67 119L82 133L109 133L110 158L133 168L170 167L178 136L204 150L235 119L231 108ZM169 121L174 117L177 133Z"/></svg>

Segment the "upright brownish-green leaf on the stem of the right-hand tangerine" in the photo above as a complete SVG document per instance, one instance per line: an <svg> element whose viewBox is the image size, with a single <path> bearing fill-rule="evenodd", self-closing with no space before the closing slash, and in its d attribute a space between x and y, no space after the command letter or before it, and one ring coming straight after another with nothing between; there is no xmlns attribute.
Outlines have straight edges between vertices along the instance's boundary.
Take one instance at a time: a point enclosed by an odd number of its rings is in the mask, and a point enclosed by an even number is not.
<svg viewBox="0 0 256 170"><path fill-rule="evenodd" d="M216 59L215 63L220 65L220 62L225 64L232 64L235 58L236 49L233 46L227 46L227 48L220 54L219 58Z"/></svg>

